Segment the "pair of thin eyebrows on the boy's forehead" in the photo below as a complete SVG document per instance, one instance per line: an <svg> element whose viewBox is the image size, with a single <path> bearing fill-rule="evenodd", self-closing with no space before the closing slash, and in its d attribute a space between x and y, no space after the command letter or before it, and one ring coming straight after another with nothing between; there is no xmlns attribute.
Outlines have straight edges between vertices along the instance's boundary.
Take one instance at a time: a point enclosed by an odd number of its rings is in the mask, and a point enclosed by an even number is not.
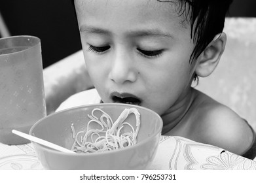
<svg viewBox="0 0 256 183"><path fill-rule="evenodd" d="M81 25L79 30L81 32L85 31L86 33L113 35L113 33L111 33L111 31L107 29L102 29L100 27L92 27L88 25ZM131 37L174 37L172 34L162 31L161 29L139 29L135 31L127 31L127 35Z"/></svg>

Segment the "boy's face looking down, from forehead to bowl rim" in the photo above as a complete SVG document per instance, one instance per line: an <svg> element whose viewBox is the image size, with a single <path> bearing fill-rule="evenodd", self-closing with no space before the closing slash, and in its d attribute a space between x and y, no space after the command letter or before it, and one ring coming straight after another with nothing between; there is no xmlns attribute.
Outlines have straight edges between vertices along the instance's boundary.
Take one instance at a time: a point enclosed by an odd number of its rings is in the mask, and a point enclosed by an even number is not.
<svg viewBox="0 0 256 183"><path fill-rule="evenodd" d="M194 73L194 44L174 3L75 0L75 7L86 67L104 103L160 115L179 106Z"/></svg>

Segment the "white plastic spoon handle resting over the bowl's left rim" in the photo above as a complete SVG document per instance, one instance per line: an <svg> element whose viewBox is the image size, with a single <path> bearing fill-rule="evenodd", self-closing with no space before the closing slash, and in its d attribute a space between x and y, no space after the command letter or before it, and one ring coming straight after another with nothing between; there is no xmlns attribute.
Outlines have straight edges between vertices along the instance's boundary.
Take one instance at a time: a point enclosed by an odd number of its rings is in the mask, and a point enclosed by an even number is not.
<svg viewBox="0 0 256 183"><path fill-rule="evenodd" d="M68 152L68 153L73 153L73 154L75 153L72 150L68 150L68 149L66 149L66 148L64 148L62 146L58 146L56 144L53 144L52 142L48 142L48 141L45 141L43 139L39 139L37 137L34 137L32 135L28 135L27 133L23 133L21 131L15 130L15 129L12 129L12 133L14 133L14 134L16 134L16 135L18 135L20 137L23 137L25 139L28 139L29 141L37 142L39 144L42 144L42 145L47 146L49 148L52 148L54 150L58 150L60 152Z"/></svg>

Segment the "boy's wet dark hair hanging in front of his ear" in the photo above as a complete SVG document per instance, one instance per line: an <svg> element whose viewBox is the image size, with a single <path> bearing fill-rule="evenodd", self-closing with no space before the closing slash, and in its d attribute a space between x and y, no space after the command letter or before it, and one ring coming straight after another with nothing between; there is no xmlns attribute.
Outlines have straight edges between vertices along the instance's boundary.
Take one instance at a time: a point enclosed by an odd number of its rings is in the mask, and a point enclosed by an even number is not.
<svg viewBox="0 0 256 183"><path fill-rule="evenodd" d="M162 3L174 3L179 16L185 15L185 21L191 24L191 39L194 41L190 63L204 51L215 35L222 33L225 17L233 0L156 0ZM74 0L71 0L74 5ZM75 7L75 6L74 6ZM194 80L198 76L194 74Z"/></svg>

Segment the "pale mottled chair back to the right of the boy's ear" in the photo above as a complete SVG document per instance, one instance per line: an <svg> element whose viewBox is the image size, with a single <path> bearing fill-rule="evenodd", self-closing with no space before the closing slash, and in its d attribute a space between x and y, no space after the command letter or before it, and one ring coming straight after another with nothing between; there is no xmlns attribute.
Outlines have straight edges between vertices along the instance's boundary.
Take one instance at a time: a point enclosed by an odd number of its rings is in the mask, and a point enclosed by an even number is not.
<svg viewBox="0 0 256 183"><path fill-rule="evenodd" d="M256 130L256 18L227 18L225 52L195 88L227 105Z"/></svg>

